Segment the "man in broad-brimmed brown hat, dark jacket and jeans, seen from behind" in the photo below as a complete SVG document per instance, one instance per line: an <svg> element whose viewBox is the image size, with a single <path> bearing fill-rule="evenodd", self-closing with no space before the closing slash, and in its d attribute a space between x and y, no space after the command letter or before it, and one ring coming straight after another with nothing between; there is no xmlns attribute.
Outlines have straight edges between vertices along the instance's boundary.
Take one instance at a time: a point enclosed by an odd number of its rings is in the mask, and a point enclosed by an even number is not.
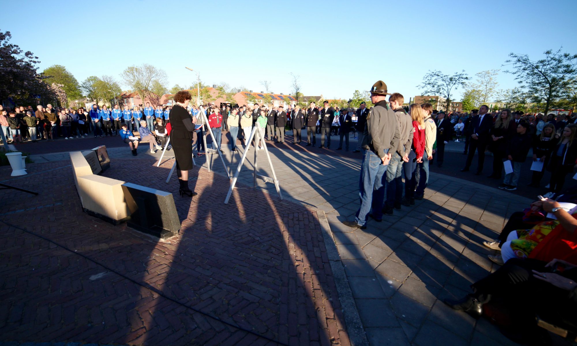
<svg viewBox="0 0 577 346"><path fill-rule="evenodd" d="M361 164L359 195L361 207L354 221L343 221L351 228L366 228L366 221L372 209L375 221L383 221L383 202L385 200L384 174L399 145L399 125L395 112L389 107L387 84L378 81L370 89L370 101L374 107L366 117L363 131L362 148L366 149ZM390 152L389 152L390 151Z"/></svg>

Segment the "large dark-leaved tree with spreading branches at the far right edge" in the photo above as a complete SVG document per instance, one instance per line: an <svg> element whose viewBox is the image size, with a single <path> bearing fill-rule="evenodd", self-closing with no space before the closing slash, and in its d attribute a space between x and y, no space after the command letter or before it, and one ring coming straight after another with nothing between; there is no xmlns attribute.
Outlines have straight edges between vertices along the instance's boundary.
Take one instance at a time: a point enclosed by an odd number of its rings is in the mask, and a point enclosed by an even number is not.
<svg viewBox="0 0 577 346"><path fill-rule="evenodd" d="M505 72L515 76L534 102L545 103L545 114L555 100L569 95L577 79L577 54L563 53L562 48L545 51L545 57L537 61L527 54L515 53L509 54L511 59L505 61L505 65L512 66L512 70Z"/></svg>

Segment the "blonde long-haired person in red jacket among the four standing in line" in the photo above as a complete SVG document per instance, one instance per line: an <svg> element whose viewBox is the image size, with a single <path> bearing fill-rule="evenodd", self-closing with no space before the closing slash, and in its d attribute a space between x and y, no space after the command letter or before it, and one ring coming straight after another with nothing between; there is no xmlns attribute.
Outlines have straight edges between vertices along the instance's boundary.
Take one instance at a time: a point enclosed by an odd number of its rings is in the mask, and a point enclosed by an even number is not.
<svg viewBox="0 0 577 346"><path fill-rule="evenodd" d="M411 205L411 202L414 204L415 186L417 185L415 168L417 163L423 162L425 153L425 111L420 104L413 103L409 107L409 114L413 120L413 143L409 153L409 162L403 163L405 184L404 198L401 201L401 204L406 206Z"/></svg>

